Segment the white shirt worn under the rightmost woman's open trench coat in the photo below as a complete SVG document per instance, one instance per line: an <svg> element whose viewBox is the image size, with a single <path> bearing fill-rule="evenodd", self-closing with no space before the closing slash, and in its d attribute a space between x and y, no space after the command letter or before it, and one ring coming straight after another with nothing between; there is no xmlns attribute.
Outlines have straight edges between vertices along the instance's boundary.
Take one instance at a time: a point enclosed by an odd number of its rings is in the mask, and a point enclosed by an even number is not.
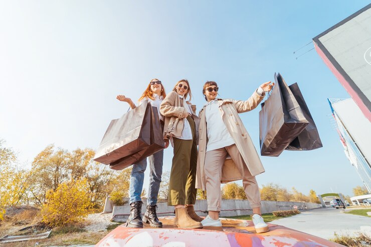
<svg viewBox="0 0 371 247"><path fill-rule="evenodd" d="M259 87L256 92L262 96L264 90ZM236 143L223 122L222 114L219 111L218 100L215 99L205 104L205 118L209 139L206 152L228 147Z"/></svg>

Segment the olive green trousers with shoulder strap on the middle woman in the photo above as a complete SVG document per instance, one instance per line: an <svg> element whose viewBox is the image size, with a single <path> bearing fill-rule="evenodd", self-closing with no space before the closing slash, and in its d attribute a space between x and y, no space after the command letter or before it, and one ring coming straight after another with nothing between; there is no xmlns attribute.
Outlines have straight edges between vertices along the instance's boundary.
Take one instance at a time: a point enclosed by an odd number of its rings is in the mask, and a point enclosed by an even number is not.
<svg viewBox="0 0 371 247"><path fill-rule="evenodd" d="M193 140L173 137L174 156L170 171L167 204L169 206L196 203L197 144L196 125L191 116L187 117L191 125Z"/></svg>

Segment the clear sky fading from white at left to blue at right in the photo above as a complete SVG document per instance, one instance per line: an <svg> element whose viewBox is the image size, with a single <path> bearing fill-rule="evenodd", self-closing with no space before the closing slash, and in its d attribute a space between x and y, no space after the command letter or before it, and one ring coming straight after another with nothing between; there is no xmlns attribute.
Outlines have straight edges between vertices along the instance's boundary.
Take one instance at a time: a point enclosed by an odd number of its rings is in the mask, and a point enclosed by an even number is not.
<svg viewBox="0 0 371 247"><path fill-rule="evenodd" d="M279 72L289 85L298 83L323 147L261 157L266 172L257 176L259 185L352 196L362 182L327 102L350 96L309 51L313 44L305 45L367 4L0 0L0 139L30 168L49 144L96 149L109 122L128 109L116 95L137 100L153 78L167 92L188 79L199 111L208 80L218 83L221 98L246 100ZM240 117L260 154L259 111ZM164 171L171 158L169 147ZM145 188L147 181L148 170Z"/></svg>

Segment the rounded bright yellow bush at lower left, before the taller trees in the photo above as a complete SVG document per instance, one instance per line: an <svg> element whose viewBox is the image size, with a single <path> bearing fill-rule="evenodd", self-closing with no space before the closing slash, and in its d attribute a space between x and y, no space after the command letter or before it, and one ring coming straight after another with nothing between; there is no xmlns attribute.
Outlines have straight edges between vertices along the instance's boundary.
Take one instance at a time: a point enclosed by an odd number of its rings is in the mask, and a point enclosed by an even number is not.
<svg viewBox="0 0 371 247"><path fill-rule="evenodd" d="M50 226L81 222L93 206L85 179L59 184L56 191L47 192L46 199L42 210L43 222Z"/></svg>

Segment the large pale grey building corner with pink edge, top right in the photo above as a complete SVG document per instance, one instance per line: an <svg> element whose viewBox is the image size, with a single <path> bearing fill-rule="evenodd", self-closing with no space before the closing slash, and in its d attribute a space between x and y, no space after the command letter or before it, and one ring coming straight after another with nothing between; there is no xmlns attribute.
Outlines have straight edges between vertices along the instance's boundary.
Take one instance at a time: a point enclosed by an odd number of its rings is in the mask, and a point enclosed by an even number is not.
<svg viewBox="0 0 371 247"><path fill-rule="evenodd" d="M313 38L314 48L371 121L371 4Z"/></svg>

